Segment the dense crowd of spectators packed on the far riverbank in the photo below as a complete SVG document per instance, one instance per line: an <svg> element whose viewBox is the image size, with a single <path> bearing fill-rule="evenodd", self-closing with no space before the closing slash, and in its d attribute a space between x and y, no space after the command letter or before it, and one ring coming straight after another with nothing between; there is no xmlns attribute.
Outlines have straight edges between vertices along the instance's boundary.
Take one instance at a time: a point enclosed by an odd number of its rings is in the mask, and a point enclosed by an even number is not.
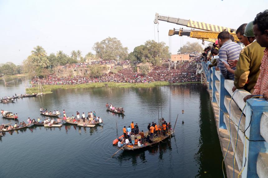
<svg viewBox="0 0 268 178"><path fill-rule="evenodd" d="M118 71L116 74L108 73L98 78L89 78L78 75L74 77L57 77L54 74L39 79L39 81L41 84L85 84L92 82L146 83L153 81L170 81L175 83L200 81L200 77L196 75L195 62L185 62L176 69L169 70L168 67L157 67L147 75L134 72L132 68L126 68ZM37 78L33 78L31 81L32 84L37 84L37 82Z"/></svg>

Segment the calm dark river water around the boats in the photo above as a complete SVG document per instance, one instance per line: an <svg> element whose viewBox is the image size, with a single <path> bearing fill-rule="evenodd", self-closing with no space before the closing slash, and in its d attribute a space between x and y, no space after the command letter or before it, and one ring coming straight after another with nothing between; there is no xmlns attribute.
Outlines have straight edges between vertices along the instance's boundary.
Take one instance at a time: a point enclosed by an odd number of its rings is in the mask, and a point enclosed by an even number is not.
<svg viewBox="0 0 268 178"><path fill-rule="evenodd" d="M15 83L4 88L0 80L0 97L24 94L22 81ZM167 121L169 91L168 86L161 87L162 116ZM0 177L223 177L223 156L206 88L202 84L176 85L171 87L171 95L172 127L179 114L174 136L152 148L120 151L112 158L117 151L112 141L122 135L123 126L134 121L140 130L146 130L149 122L157 121L160 87L59 89L53 94L1 103L0 109L18 113L17 122L28 117L43 120L39 112L43 107L61 113L65 109L67 116L95 111L104 124L94 128L31 126L5 133L0 138ZM106 103L124 107L125 116L107 112ZM15 124L0 118L0 124L9 122Z"/></svg>

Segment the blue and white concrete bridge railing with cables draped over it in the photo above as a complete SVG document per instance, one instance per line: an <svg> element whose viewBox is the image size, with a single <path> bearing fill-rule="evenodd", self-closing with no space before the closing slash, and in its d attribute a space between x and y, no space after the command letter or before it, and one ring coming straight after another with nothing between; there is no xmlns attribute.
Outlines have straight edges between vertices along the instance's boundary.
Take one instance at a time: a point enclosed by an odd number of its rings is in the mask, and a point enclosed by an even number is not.
<svg viewBox="0 0 268 178"><path fill-rule="evenodd" d="M231 145L242 177L267 177L268 102L251 98L245 103L243 98L250 93L232 92L233 80L225 80L215 67L208 69L208 63L202 62L202 67L208 89L212 91L212 102L219 108L218 127L231 133Z"/></svg>

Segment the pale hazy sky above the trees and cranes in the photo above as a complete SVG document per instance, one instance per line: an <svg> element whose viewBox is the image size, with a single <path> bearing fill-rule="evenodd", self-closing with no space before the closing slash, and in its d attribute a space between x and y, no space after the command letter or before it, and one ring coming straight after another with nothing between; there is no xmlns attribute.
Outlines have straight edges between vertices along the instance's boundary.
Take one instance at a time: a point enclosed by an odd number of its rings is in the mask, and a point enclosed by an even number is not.
<svg viewBox="0 0 268 178"><path fill-rule="evenodd" d="M0 63L20 64L40 45L48 55L59 50L68 55L81 50L83 56L108 36L121 40L129 52L154 33L155 13L235 28L254 20L267 8L267 0L208 1L79 1L0 0ZM254 7L253 7L254 6ZM184 26L160 21L159 40L169 45L168 30ZM184 27L185 28L185 27ZM201 40L173 36L171 49Z"/></svg>

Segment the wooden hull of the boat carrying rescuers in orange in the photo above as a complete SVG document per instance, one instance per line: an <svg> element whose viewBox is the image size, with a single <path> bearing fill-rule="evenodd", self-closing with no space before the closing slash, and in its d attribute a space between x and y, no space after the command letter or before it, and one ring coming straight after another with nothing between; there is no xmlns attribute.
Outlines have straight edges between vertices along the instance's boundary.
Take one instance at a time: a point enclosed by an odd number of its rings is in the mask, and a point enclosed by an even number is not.
<svg viewBox="0 0 268 178"><path fill-rule="evenodd" d="M146 133L146 132L145 132ZM144 133L144 138L147 137L148 135L148 132L145 134ZM133 148L130 148L130 147L127 147L125 146L124 148L122 148L122 150L126 150L126 151L133 151L133 150L138 150L138 149L143 149L143 148L149 148L155 144L158 144L159 142L163 141L164 139L167 139L170 137L170 135L172 135L174 133L174 130L171 131L171 132L168 132L165 136L164 135L161 135L161 136L158 136L158 137L154 137L154 138L150 138L150 143L148 142L145 142L145 144L143 144L143 146L139 147L138 145L134 145ZM141 136L140 135L136 135L137 139L140 139ZM118 148L120 149L120 148Z"/></svg>

